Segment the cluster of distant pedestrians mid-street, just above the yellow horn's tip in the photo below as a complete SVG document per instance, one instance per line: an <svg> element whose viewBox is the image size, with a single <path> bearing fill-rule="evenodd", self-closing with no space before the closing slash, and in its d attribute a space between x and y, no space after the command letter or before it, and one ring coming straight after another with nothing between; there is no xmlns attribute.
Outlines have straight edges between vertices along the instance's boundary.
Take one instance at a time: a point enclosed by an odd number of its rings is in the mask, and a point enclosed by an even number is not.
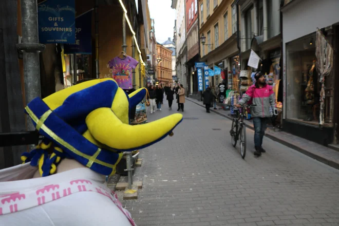
<svg viewBox="0 0 339 226"><path fill-rule="evenodd" d="M164 94L166 95L166 99L168 101L168 108L172 110L172 104L174 100L174 95L176 95L176 100L178 103L178 111L184 109L185 103L185 89L180 84L177 87L172 85L167 85L162 87L162 85L149 85L147 87L149 97L149 107L150 107L150 114L153 114L156 110L161 111L161 105L163 104ZM157 109L156 109L157 106Z"/></svg>

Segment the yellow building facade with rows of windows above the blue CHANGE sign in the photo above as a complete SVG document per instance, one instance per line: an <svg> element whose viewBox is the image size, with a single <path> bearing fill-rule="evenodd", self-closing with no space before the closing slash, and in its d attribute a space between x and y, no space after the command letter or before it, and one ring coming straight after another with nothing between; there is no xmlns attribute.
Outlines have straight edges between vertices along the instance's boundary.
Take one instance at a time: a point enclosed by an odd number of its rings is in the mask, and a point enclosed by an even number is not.
<svg viewBox="0 0 339 226"><path fill-rule="evenodd" d="M199 39L201 62L219 66L227 74L237 58L237 6L234 0L199 0ZM205 37L202 44L201 37ZM220 76L210 78L217 85Z"/></svg>

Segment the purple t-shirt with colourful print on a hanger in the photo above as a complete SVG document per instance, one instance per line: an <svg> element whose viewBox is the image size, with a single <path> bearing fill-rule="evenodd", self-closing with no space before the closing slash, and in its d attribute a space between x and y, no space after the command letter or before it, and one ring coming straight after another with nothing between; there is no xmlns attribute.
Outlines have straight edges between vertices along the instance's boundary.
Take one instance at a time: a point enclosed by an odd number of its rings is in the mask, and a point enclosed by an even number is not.
<svg viewBox="0 0 339 226"><path fill-rule="evenodd" d="M137 67L138 61L130 56L124 59L118 56L108 62L109 68L113 70L112 78L117 81L122 89L131 89L132 85L132 70Z"/></svg>

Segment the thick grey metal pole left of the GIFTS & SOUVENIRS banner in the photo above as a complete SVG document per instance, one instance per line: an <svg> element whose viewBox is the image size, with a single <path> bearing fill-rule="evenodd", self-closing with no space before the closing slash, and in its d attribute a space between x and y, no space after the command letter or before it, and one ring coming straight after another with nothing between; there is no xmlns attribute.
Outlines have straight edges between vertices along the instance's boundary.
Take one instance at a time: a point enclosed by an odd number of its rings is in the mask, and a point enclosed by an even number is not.
<svg viewBox="0 0 339 226"><path fill-rule="evenodd" d="M21 15L23 38L16 48L23 52L25 97L28 104L34 98L41 97L39 52L45 50L45 45L39 44L36 0L22 0ZM35 130L31 120L27 120L27 130Z"/></svg>

